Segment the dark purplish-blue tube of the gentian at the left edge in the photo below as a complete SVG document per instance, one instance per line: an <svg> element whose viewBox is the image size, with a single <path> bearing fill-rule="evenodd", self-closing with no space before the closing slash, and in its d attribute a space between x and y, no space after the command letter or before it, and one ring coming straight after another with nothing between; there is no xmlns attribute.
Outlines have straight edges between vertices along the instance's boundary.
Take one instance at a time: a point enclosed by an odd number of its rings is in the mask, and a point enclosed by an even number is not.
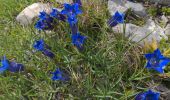
<svg viewBox="0 0 170 100"><path fill-rule="evenodd" d="M9 71L19 72L24 70L24 65L16 62L10 62Z"/></svg>

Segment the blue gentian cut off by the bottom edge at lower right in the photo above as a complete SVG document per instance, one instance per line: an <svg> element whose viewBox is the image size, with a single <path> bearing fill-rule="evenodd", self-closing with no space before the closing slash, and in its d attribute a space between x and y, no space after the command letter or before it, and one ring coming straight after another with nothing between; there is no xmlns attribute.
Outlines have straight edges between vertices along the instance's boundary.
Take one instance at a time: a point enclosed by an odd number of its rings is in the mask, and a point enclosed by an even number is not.
<svg viewBox="0 0 170 100"><path fill-rule="evenodd" d="M135 100L159 100L160 93L148 90L144 93L140 93L135 97Z"/></svg>

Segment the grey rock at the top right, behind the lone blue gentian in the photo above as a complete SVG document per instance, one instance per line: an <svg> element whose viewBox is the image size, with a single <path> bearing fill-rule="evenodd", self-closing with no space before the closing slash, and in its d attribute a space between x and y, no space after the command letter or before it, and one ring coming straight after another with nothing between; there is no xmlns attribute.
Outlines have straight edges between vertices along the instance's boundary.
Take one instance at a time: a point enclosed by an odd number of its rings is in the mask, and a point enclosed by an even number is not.
<svg viewBox="0 0 170 100"><path fill-rule="evenodd" d="M135 14L139 16L146 16L145 8L140 3L134 3L127 0L109 0L108 1L108 10L111 15L114 15L116 11L125 13L128 9L132 9Z"/></svg>

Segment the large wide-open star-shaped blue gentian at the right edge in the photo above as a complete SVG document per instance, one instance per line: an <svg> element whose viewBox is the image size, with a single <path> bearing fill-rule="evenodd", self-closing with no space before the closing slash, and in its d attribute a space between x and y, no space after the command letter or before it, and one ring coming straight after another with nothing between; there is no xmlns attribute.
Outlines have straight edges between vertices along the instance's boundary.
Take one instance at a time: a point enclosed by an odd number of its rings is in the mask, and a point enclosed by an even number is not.
<svg viewBox="0 0 170 100"><path fill-rule="evenodd" d="M148 60L145 67L154 69L159 73L164 73L165 66L170 62L170 59L164 57L159 49L156 49L153 53L145 54L145 58Z"/></svg>

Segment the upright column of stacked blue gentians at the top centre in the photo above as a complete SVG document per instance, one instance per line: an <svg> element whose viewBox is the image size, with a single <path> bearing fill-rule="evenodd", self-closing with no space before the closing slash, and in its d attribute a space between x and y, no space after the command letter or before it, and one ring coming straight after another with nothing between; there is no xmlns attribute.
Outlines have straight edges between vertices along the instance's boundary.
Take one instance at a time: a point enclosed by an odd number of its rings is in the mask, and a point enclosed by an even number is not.
<svg viewBox="0 0 170 100"><path fill-rule="evenodd" d="M62 14L67 16L67 21L70 25L72 31L72 44L75 45L79 50L83 48L85 36L80 35L78 32L78 19L77 15L81 14L82 11L79 9L81 4L80 0L77 0L78 3L73 4L64 4L64 9L61 11Z"/></svg>

